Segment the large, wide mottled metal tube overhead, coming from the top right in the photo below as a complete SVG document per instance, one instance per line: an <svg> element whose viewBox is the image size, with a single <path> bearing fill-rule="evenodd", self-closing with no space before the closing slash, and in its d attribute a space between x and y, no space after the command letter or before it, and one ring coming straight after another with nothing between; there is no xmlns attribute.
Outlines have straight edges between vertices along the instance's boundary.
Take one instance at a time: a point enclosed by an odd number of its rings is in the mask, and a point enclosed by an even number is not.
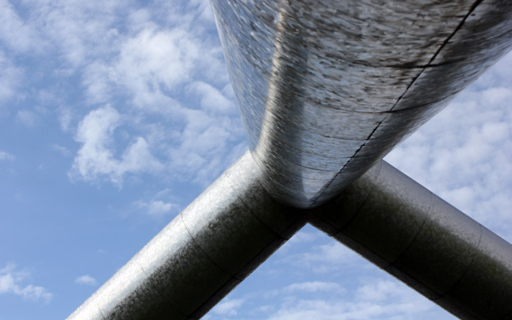
<svg viewBox="0 0 512 320"><path fill-rule="evenodd" d="M212 0L272 196L318 206L511 46L510 1Z"/></svg>

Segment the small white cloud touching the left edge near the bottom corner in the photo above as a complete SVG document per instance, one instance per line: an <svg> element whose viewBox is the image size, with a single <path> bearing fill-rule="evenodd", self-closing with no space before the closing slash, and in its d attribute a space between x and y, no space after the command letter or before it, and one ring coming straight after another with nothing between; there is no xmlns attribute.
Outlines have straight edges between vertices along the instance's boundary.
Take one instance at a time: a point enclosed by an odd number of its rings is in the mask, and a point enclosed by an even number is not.
<svg viewBox="0 0 512 320"><path fill-rule="evenodd" d="M24 282L30 277L30 273L26 271L16 271L16 265L10 264L0 269L0 294L16 294L32 301L50 302L53 294L48 292L44 287L27 284Z"/></svg>

